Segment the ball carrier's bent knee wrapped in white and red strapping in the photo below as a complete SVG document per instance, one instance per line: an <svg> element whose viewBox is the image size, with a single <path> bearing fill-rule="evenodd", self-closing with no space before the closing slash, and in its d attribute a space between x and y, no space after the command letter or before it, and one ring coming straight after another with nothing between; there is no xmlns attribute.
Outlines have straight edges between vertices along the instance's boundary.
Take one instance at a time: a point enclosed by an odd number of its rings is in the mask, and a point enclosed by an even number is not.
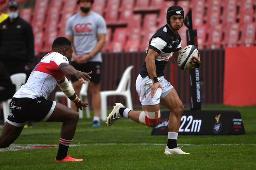
<svg viewBox="0 0 256 170"><path fill-rule="evenodd" d="M160 122L160 110L157 112L143 111L140 113L139 121L148 127L156 127Z"/></svg>

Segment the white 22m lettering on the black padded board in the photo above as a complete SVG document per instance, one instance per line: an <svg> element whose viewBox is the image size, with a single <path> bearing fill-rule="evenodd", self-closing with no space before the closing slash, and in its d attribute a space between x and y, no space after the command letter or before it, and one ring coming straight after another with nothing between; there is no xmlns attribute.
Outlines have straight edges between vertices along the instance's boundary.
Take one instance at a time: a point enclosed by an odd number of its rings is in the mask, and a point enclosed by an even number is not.
<svg viewBox="0 0 256 170"><path fill-rule="evenodd" d="M185 128L185 123L186 128ZM193 116L182 116L181 117L181 126L179 132L200 132L202 120L193 120ZM185 129L184 129L185 128Z"/></svg>

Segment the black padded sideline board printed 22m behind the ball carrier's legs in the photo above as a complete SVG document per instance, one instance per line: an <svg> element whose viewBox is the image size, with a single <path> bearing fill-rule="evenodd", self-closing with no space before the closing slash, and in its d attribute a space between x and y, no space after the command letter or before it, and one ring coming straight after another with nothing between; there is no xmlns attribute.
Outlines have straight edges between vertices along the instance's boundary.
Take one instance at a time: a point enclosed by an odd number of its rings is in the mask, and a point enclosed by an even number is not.
<svg viewBox="0 0 256 170"><path fill-rule="evenodd" d="M151 135L168 135L170 111L161 111L160 123L152 128ZM243 135L241 114L232 110L185 110L179 135Z"/></svg>

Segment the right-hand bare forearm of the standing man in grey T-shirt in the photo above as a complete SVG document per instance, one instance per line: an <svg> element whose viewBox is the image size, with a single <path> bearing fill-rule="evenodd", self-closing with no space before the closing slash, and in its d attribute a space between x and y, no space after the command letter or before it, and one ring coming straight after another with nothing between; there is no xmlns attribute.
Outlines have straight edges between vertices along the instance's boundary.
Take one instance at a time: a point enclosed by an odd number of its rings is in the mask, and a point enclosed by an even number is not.
<svg viewBox="0 0 256 170"><path fill-rule="evenodd" d="M105 45L106 41L106 34L98 34L98 43L94 47L93 51L91 51L89 54L82 55L79 60L77 60L78 64L87 63L91 58L93 58Z"/></svg>

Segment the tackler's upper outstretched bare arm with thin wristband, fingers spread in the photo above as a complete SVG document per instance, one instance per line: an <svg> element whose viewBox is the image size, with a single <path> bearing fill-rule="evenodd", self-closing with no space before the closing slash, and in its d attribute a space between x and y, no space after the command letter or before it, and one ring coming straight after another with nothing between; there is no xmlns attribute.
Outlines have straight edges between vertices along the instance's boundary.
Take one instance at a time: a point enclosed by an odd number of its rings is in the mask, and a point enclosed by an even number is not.
<svg viewBox="0 0 256 170"><path fill-rule="evenodd" d="M59 70L62 71L64 74L69 76L75 76L81 83L85 84L86 80L87 82L90 82L90 76L89 74L93 73L92 71L89 73L85 72L79 72L79 70L76 70L73 66L67 64L67 63L61 63L59 65ZM83 79L83 80L81 80Z"/></svg>

